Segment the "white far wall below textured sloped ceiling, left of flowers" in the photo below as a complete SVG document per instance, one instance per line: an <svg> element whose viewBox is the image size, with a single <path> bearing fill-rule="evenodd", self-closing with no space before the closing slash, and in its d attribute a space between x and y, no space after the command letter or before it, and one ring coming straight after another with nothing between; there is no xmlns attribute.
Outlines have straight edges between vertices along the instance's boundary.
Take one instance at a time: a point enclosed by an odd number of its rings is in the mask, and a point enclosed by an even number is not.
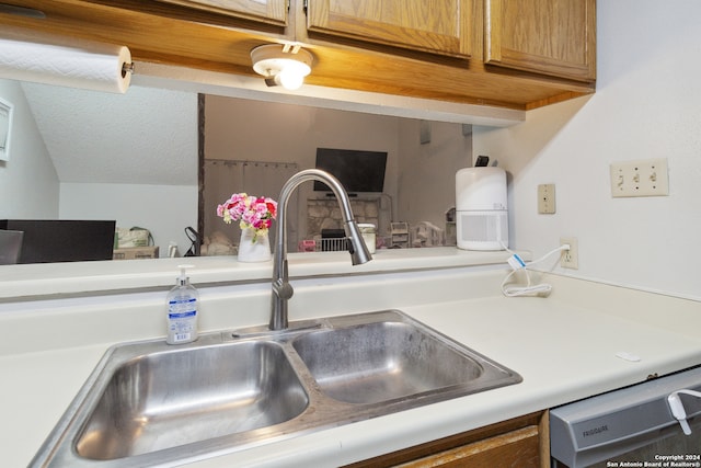
<svg viewBox="0 0 701 468"><path fill-rule="evenodd" d="M197 229L196 185L61 183L61 219L116 220L119 228L149 229L160 256L170 241L189 249L187 226Z"/></svg>

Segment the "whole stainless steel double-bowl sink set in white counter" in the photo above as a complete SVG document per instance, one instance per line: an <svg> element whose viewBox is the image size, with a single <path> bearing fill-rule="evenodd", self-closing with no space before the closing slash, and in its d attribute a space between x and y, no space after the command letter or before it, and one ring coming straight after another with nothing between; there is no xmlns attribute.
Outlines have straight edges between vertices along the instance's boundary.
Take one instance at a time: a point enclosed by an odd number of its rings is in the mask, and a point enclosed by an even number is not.
<svg viewBox="0 0 701 468"><path fill-rule="evenodd" d="M31 466L173 466L520 380L397 310L125 343Z"/></svg>

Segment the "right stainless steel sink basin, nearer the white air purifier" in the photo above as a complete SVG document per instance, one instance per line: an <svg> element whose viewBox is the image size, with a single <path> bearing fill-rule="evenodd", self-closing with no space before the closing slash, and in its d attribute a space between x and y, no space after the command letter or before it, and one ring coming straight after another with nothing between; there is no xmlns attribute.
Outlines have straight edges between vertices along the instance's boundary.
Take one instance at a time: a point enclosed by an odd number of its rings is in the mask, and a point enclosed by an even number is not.
<svg viewBox="0 0 701 468"><path fill-rule="evenodd" d="M315 331L292 343L321 390L348 403L379 403L469 384L474 358L410 323L381 321Z"/></svg>

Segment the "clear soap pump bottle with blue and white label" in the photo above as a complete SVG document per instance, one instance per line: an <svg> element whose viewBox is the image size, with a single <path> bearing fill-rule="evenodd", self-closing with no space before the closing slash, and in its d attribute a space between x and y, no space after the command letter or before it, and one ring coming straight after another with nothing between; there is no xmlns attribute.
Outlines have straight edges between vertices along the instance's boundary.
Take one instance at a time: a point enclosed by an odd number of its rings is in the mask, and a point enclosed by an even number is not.
<svg viewBox="0 0 701 468"><path fill-rule="evenodd" d="M168 293L168 344L183 344L197 340L197 307L199 295L189 284L187 269L193 265L177 265L180 277L175 287Z"/></svg>

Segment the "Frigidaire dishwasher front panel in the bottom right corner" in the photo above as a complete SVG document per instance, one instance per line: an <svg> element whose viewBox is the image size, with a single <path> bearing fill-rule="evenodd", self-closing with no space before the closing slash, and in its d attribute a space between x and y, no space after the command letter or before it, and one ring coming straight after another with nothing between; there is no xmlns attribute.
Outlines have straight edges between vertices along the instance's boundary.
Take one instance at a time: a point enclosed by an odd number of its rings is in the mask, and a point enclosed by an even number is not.
<svg viewBox="0 0 701 468"><path fill-rule="evenodd" d="M701 367L552 409L550 445L554 468L701 467Z"/></svg>

